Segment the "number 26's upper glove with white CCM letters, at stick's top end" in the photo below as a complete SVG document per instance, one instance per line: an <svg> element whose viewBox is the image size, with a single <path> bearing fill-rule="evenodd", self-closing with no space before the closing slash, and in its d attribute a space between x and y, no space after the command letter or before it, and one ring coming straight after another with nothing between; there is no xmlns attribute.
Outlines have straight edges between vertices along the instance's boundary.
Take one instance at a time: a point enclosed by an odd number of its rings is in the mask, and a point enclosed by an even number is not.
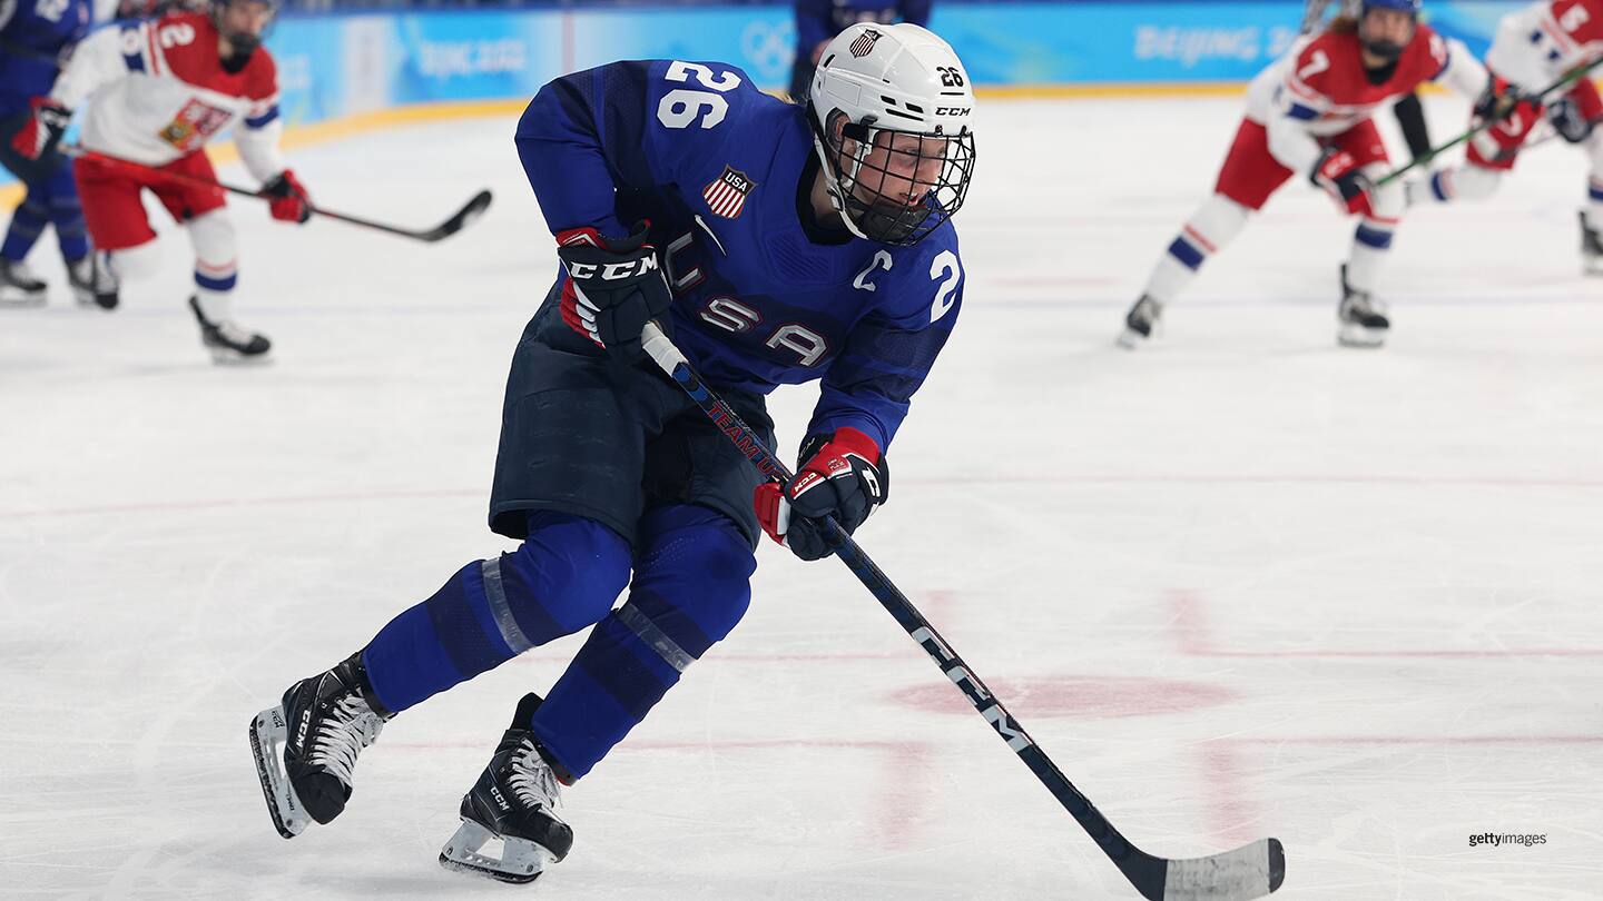
<svg viewBox="0 0 1603 901"><path fill-rule="evenodd" d="M649 223L635 223L624 239L604 237L593 228L556 236L556 255L567 266L563 285L563 322L616 359L641 359L640 332L659 319L668 327L673 303L657 265L657 248L646 244Z"/></svg>

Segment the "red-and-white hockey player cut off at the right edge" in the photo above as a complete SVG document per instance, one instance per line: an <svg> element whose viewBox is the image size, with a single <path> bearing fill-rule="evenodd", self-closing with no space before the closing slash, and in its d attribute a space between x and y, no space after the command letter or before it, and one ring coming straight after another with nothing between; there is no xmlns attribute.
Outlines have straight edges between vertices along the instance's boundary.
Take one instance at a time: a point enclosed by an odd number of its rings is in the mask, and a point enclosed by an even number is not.
<svg viewBox="0 0 1603 901"><path fill-rule="evenodd" d="M1528 99L1577 67L1603 58L1603 0L1542 0L1497 24L1486 53L1496 91L1513 111L1470 138L1462 167L1448 167L1407 186L1409 204L1481 200L1497 191L1520 147L1545 115L1553 131L1579 144L1590 164L1587 204L1581 210L1582 271L1603 276L1603 99L1590 75L1557 99Z"/></svg>

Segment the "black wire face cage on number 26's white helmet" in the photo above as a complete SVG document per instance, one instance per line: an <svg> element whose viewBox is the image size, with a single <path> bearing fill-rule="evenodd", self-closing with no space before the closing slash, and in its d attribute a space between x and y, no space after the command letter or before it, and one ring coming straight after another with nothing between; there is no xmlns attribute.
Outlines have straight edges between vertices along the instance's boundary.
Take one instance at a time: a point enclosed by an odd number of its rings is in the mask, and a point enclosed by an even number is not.
<svg viewBox="0 0 1603 901"><path fill-rule="evenodd" d="M867 237L911 247L963 205L975 172L975 135L899 131L846 123L824 138L842 210Z"/></svg>

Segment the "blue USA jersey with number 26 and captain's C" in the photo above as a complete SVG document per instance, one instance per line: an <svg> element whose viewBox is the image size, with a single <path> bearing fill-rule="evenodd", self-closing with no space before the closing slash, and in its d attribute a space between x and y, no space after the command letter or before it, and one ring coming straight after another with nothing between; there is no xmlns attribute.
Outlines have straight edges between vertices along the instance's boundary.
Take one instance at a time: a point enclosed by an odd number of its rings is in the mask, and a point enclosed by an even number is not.
<svg viewBox="0 0 1603 901"><path fill-rule="evenodd" d="M962 303L951 221L914 247L810 236L806 111L721 63L558 79L529 103L516 143L553 232L622 236L649 220L673 340L710 383L768 393L822 380L808 434L853 426L890 446Z"/></svg>

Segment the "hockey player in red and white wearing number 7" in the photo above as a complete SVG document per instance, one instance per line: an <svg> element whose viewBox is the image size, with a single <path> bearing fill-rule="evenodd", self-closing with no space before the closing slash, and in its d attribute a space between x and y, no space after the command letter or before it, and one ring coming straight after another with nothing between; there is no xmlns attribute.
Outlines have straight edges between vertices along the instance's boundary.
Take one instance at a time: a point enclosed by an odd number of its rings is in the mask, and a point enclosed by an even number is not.
<svg viewBox="0 0 1603 901"><path fill-rule="evenodd" d="M1422 82L1443 82L1468 96L1480 96L1488 85L1475 56L1420 24L1419 8L1420 0L1364 0L1356 22L1334 19L1252 80L1215 192L1159 258L1125 316L1120 345L1148 341L1164 308L1202 263L1294 175L1327 191L1343 213L1359 216L1340 269L1337 340L1366 348L1385 341L1390 321L1374 292L1406 202L1401 183L1375 188L1375 178L1387 172L1387 149L1374 111Z"/></svg>

